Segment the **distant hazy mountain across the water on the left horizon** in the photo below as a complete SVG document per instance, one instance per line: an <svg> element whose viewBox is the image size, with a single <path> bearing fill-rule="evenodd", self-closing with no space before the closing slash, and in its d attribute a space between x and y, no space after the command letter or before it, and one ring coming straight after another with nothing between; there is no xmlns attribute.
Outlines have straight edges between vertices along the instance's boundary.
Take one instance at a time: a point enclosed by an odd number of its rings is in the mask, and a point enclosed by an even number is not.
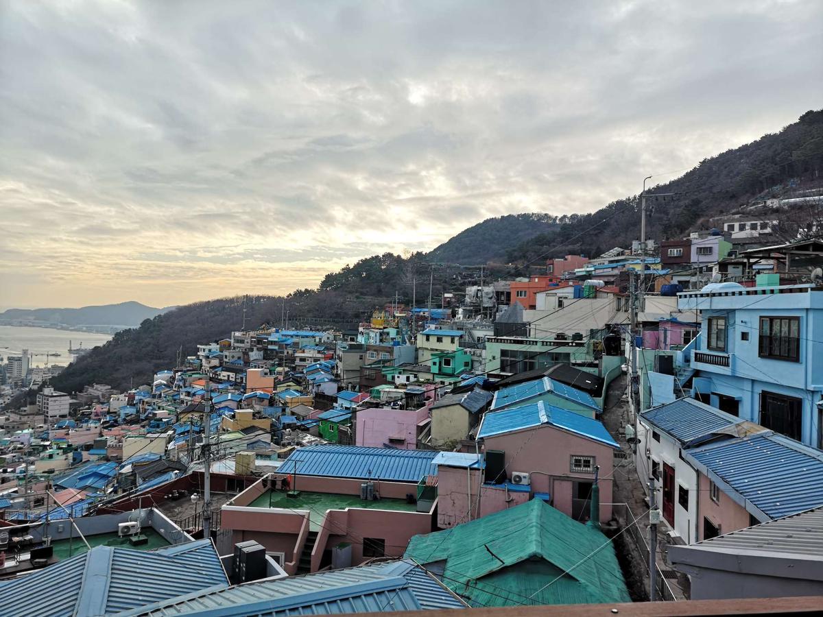
<svg viewBox="0 0 823 617"><path fill-rule="evenodd" d="M62 323L66 326L139 326L174 307L153 308L139 302L102 304L81 308L9 308L0 319Z"/></svg>

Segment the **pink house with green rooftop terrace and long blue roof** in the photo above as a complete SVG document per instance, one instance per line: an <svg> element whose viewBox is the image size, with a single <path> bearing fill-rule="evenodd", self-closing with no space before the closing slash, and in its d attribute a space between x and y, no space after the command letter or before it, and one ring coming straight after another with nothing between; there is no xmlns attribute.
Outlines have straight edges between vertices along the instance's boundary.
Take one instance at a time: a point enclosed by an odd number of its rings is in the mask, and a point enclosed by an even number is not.
<svg viewBox="0 0 823 617"><path fill-rule="evenodd" d="M282 473L269 474L223 506L221 528L231 530L233 543L258 541L289 574L402 557L412 536L435 529L436 454L297 448Z"/></svg>

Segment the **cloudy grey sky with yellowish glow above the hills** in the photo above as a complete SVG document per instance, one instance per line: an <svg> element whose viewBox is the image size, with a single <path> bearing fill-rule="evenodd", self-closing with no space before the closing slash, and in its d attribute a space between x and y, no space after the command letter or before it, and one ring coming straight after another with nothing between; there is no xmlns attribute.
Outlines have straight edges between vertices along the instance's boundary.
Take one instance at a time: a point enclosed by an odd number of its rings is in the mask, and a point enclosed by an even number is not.
<svg viewBox="0 0 823 617"><path fill-rule="evenodd" d="M592 211L820 108L821 33L818 0L0 0L0 306L276 294Z"/></svg>

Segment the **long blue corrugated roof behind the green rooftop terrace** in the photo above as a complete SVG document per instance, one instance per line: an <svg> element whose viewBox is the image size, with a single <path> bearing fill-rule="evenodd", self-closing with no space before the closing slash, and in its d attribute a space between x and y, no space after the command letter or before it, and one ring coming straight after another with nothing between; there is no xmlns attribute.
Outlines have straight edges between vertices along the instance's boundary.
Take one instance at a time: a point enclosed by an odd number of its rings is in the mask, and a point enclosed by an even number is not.
<svg viewBox="0 0 823 617"><path fill-rule="evenodd" d="M332 476L359 480L419 482L437 473L432 450L398 450L361 446L321 445L297 448L281 469L299 476Z"/></svg>

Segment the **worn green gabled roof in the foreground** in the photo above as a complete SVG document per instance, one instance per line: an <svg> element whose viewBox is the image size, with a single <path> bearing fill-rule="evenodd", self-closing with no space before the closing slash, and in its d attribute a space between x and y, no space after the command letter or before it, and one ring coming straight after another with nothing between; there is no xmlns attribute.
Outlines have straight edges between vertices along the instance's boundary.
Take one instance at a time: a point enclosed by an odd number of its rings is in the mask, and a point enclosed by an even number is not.
<svg viewBox="0 0 823 617"><path fill-rule="evenodd" d="M405 556L424 565L445 561L444 584L473 606L629 602L614 546L607 542L601 531L532 499L414 536Z"/></svg>

